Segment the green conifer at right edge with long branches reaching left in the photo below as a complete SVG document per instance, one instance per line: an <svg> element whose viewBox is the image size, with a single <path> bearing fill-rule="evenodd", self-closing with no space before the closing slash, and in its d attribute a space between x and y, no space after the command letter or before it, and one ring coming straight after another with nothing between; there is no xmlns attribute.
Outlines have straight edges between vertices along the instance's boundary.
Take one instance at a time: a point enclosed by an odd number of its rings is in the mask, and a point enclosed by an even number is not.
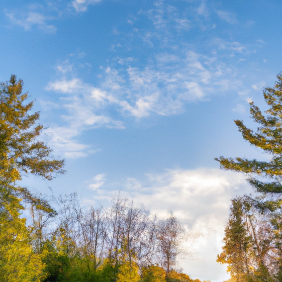
<svg viewBox="0 0 282 282"><path fill-rule="evenodd" d="M243 121L234 121L243 138L268 153L270 160L215 158L223 169L248 173L250 177L247 180L258 192L272 195L282 193L282 72L277 79L273 88L263 90L264 100L270 106L265 111L266 115L253 102L250 103L251 118L259 125L256 132L247 128Z"/></svg>

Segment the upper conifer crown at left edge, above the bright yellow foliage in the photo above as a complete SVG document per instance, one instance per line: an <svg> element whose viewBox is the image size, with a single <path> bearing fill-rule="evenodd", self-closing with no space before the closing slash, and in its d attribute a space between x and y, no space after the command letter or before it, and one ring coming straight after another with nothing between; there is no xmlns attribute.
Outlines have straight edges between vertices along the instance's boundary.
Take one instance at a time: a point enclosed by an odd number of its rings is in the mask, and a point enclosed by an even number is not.
<svg viewBox="0 0 282 282"><path fill-rule="evenodd" d="M43 126L36 124L39 113L29 115L34 102L25 104L23 81L11 75L0 83L0 186L15 183L23 173L40 175L47 180L64 173L64 160L51 158L52 150L37 138ZM25 190L14 189L22 194Z"/></svg>

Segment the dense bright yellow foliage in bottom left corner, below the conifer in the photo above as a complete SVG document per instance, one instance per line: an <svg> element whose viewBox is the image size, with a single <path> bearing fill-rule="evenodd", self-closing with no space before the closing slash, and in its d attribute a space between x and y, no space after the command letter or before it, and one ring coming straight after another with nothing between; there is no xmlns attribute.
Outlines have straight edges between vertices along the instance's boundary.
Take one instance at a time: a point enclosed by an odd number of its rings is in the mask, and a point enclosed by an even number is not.
<svg viewBox="0 0 282 282"><path fill-rule="evenodd" d="M18 205L12 198L0 212L0 281L39 282L44 265L29 244L25 219L18 217Z"/></svg>

